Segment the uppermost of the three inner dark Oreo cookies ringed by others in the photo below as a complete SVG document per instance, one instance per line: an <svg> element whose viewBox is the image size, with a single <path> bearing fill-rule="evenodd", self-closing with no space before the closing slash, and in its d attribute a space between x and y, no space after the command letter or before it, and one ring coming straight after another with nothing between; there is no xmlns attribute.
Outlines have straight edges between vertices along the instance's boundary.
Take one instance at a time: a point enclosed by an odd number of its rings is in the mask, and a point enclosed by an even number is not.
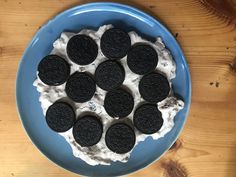
<svg viewBox="0 0 236 177"><path fill-rule="evenodd" d="M95 72L97 85L107 91L121 86L124 79L124 68L119 63L111 60L101 63Z"/></svg>

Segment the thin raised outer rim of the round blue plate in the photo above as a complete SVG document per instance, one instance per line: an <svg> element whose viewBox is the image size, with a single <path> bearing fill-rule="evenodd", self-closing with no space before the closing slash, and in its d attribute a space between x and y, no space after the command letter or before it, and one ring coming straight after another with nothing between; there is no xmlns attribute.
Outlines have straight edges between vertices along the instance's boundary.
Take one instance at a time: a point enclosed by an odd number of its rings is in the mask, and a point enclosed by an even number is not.
<svg viewBox="0 0 236 177"><path fill-rule="evenodd" d="M81 13L81 9L83 9L83 8L87 8L87 10L84 10L84 11L85 11L85 12L88 12L88 9L89 9L89 8L92 8L93 6L96 6L96 7L98 7L98 6L100 6L100 7L103 7L103 6L111 6L111 7L119 8L121 11L132 10L133 12L137 13L139 16L143 16L145 19L148 19L148 20L150 20L150 21L153 21L154 23L157 23L159 26L161 26L161 28L165 31L165 33L167 33L168 35L172 36L173 39L174 39L174 42L177 44L177 45L176 45L176 46L177 46L177 50L179 50L180 53L181 53L181 58L182 58L182 60L183 60L183 65L184 65L184 68L185 68L184 70L185 70L185 72L186 72L187 80L189 81L189 85L188 85L188 87L189 87L188 96L189 96L189 97L188 97L188 100L187 100L188 105L187 105L187 107L186 107L186 118L184 119L184 122L183 122L182 127L179 129L178 133L176 134L176 137L175 137L174 141L170 144L170 146L169 146L158 158L156 158L155 160L153 160L153 161L151 161L151 162L145 163L144 165L142 165L142 167L138 167L138 168L135 168L135 169L133 169L133 170L129 170L127 173L122 173L121 175L119 175L119 176L123 176L123 175L128 175L128 174L137 172L137 171L139 171L139 170L141 170L141 169L144 169L144 168L148 167L149 165L155 163L155 162L158 161L163 155L165 155L166 152L169 150L169 148L176 142L176 140L178 139L180 133L183 131L183 128L184 128L184 126L185 126L185 124L186 124L186 121L187 121L187 119L188 119L188 116L189 116L189 111L190 111L190 106L191 106L191 97L192 97L192 81L191 81L191 75L190 75L189 67L188 67L188 64L187 64L187 60L186 60L186 58L185 58L185 56L184 56L183 50L182 50L180 44L178 43L178 41L174 38L173 34L170 32L170 30L168 29L168 27L164 26L164 25L159 21L159 19L157 19L157 17L154 18L154 17L152 17L149 13L143 12L143 11L142 11L141 9L139 9L139 8L136 8L136 7L133 7L133 6L130 6L130 5L127 5L127 4L123 4L123 3L116 3L116 2L91 2L91 3L85 3L85 4L81 4L81 5L76 5L76 6L72 7L72 8L68 8L68 9L66 9L66 10L64 10L64 11L61 11L61 12L57 13L57 15L55 15L54 17L52 17L52 18L50 18L49 20L47 20L47 22L45 22L44 24L42 24L42 26L40 27L40 29L38 29L38 30L34 33L33 37L32 37L31 40L28 42L28 44L27 44L27 46L26 46L26 48L25 48L25 50L24 50L24 52L23 52L23 54L22 54L22 57L21 57L20 61L18 62L18 69L17 69L17 72L16 72L16 82L15 82L15 89L16 89L16 90L15 90L15 100L16 100L17 113L18 113L18 117L19 117L19 119L20 119L20 122L21 122L22 126L24 127L25 133L27 134L27 136L28 136L28 138L30 139L31 143L32 143L35 147L37 147L38 151L39 151L41 154L43 154L47 159L49 159L51 162L53 162L53 164L55 164L56 166L58 166L58 167L60 167L60 168L62 168L62 169L64 169L64 170L66 170L66 171L73 172L73 173L75 173L75 174L79 174L79 175L82 175L82 176L86 176L86 175L83 174L83 173L78 173L78 171L74 171L74 170L72 170L72 169L67 169L67 168L61 166L61 164L59 164L59 163L55 162L54 160L50 159L50 158L48 157L47 153L44 152L43 149L42 149L38 144L36 144L34 138L28 133L29 131L28 131L28 128L27 128L27 126L26 126L26 123L25 123L24 120L23 120L23 119L24 119L24 118L23 118L23 115L22 115L23 113L22 113L22 110L20 109L20 103L19 103L19 102L20 102L20 101L19 101L19 100L20 100L20 98L19 98L19 94L20 94L20 93L19 93L19 82L20 82L19 73L20 73L20 70L21 70L21 68L22 68L23 61L26 60L26 59L25 59L26 53L30 50L29 48L34 45L34 42L35 42L35 40L37 39L38 34L39 34L41 31L43 31L44 28L46 28L50 23L52 23L52 22L53 22L54 20L56 20L57 18L60 18L61 16L65 15L65 14L67 14L67 13L70 13L70 12L72 12L72 11L74 11L74 10L77 10L77 11L79 11L79 12ZM94 10L96 10L96 9L94 9ZM90 11L94 11L94 10L90 9ZM113 12L114 12L114 10L112 10L112 9L111 9L111 10L110 10L110 9L107 9L107 11L113 11ZM97 175L97 176L98 176L98 175Z"/></svg>

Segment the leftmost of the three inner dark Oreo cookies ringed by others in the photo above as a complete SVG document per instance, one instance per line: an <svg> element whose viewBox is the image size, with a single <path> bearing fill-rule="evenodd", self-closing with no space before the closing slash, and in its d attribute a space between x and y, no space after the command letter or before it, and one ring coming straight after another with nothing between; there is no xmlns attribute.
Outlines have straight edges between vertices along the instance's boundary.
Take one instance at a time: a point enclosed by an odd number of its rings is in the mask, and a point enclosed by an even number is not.
<svg viewBox="0 0 236 177"><path fill-rule="evenodd" d="M83 103L90 100L96 90L96 84L93 78L81 72L72 74L66 83L66 94L73 101Z"/></svg>

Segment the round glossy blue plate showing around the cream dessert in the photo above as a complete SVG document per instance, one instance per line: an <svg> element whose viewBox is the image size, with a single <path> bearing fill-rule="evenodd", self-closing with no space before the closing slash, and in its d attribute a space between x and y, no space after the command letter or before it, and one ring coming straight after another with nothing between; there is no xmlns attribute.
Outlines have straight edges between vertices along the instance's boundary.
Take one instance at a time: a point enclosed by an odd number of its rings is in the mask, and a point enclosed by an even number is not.
<svg viewBox="0 0 236 177"><path fill-rule="evenodd" d="M177 76L173 80L174 91L180 95L185 107L175 117L175 126L164 138L151 138L135 147L127 163L110 166L90 166L75 158L67 142L46 125L39 93L33 87L39 61L52 50L53 42L63 31L97 29L112 23L127 31L135 30L150 40L161 36L171 50L177 64ZM16 81L16 99L19 115L26 132L38 149L50 160L72 172L85 176L125 175L159 159L176 141L187 119L191 101L191 80L182 50L175 38L160 22L133 7L116 3L91 3L77 6L57 15L44 25L27 47L19 65Z"/></svg>

